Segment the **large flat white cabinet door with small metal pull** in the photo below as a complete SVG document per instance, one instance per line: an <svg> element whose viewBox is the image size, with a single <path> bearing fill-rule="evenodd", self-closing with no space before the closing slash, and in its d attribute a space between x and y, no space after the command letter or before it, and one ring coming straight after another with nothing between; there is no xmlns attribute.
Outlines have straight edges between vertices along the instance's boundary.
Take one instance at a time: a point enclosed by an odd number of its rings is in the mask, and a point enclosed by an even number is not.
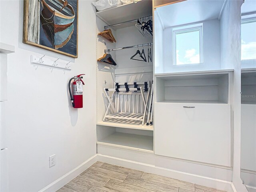
<svg viewBox="0 0 256 192"><path fill-rule="evenodd" d="M229 104L155 103L154 115L155 154L231 166Z"/></svg>

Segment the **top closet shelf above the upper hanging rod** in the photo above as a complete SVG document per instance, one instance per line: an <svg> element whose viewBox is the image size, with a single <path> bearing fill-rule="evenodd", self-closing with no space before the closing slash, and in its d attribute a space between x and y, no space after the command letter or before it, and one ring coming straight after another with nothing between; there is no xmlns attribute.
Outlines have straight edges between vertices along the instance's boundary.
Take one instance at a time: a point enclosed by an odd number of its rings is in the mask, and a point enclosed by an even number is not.
<svg viewBox="0 0 256 192"><path fill-rule="evenodd" d="M130 2L96 12L96 16L108 25L124 21L134 20L144 16L152 15L152 0L138 0L137 3ZM135 25L134 23L116 26L114 29Z"/></svg>

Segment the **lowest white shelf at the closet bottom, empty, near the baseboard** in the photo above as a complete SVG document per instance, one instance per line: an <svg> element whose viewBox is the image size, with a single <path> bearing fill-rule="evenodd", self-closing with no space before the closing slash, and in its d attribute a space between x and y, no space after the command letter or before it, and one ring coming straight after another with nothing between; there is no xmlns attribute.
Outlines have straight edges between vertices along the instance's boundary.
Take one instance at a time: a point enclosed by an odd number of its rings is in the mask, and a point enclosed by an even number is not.
<svg viewBox="0 0 256 192"><path fill-rule="evenodd" d="M97 144L153 153L152 136L114 132Z"/></svg>

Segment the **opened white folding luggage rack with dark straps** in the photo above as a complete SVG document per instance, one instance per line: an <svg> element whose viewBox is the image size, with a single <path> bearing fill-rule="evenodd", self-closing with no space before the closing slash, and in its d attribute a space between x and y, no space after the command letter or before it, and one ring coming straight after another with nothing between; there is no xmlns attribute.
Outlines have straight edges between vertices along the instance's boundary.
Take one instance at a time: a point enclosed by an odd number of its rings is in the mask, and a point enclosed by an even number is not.
<svg viewBox="0 0 256 192"><path fill-rule="evenodd" d="M103 121L125 120L126 123L140 121L146 123L149 112L149 82L114 83L114 88L104 88L109 104ZM113 91L110 98L109 92ZM145 96L146 95L146 96Z"/></svg>

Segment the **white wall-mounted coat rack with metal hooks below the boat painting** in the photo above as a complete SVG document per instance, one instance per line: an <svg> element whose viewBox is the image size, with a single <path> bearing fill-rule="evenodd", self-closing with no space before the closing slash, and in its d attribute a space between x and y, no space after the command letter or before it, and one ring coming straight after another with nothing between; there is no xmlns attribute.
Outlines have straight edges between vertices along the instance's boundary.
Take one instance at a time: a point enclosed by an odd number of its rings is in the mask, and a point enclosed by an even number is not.
<svg viewBox="0 0 256 192"><path fill-rule="evenodd" d="M31 64L71 71L71 61L67 62L65 60L61 60L60 58L50 58L45 56L45 54L42 57L31 55Z"/></svg>

